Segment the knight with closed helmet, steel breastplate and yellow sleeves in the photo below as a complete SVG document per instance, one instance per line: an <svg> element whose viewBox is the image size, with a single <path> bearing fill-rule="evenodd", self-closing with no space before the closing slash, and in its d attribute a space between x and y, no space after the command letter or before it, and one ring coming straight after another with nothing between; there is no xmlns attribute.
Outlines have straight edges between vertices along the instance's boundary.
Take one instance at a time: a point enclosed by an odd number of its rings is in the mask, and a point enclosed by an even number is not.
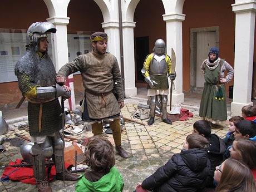
<svg viewBox="0 0 256 192"><path fill-rule="evenodd" d="M145 77L147 85L147 96L150 100L150 120L148 125L155 122L155 110L157 104L157 95L160 95L160 109L162 119L166 124L172 124L167 118L167 97L169 93L168 73L171 80L175 80L176 73L171 73L171 58L165 54L164 40L156 40L153 53L147 55L142 75Z"/></svg>

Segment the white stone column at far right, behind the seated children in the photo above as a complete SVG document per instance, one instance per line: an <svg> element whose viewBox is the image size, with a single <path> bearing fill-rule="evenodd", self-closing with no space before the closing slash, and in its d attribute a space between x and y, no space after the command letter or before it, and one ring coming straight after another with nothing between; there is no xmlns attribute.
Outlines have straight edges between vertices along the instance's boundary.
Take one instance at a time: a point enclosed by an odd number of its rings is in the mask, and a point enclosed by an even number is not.
<svg viewBox="0 0 256 192"><path fill-rule="evenodd" d="M241 116L244 105L253 105L251 95L256 1L239 1L232 4L232 8L235 12L235 63L231 114Z"/></svg>

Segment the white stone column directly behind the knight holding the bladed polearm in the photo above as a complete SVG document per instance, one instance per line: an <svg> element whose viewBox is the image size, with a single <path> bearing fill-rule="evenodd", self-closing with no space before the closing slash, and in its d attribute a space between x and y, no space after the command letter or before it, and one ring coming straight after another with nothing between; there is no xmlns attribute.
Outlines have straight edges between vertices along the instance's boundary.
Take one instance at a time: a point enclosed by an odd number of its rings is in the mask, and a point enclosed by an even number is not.
<svg viewBox="0 0 256 192"><path fill-rule="evenodd" d="M183 93L183 52L182 52L182 22L185 20L185 14L164 14L166 22L166 46L167 54L171 56L171 48L176 55L176 80L174 81L173 96L171 104L181 104L184 102ZM171 56L173 57L173 56ZM168 96L170 102L170 95Z"/></svg>

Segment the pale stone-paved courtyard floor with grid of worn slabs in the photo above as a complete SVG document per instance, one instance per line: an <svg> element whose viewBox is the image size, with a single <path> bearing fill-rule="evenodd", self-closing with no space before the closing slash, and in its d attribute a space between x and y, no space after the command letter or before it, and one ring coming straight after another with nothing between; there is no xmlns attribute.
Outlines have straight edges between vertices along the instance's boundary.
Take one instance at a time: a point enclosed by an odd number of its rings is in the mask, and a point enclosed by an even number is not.
<svg viewBox="0 0 256 192"><path fill-rule="evenodd" d="M142 100L145 102L145 100ZM121 115L132 119L132 115L137 110L138 102L136 100L126 100L125 107L121 110ZM198 116L198 107L186 106L190 112L193 112L194 117L187 121L175 121L173 125L165 124L159 117L155 118L155 123L151 126L146 124L146 120L137 120L144 122L144 125L126 122L125 130L122 131L122 145L129 152L130 157L124 159L116 154L116 168L119 169L124 178L124 191L133 191L137 182L142 182L147 176L154 173L159 166L164 165L170 157L180 152L183 142L187 135L191 134L193 124L200 120ZM135 119L134 119L135 120ZM11 139L17 137L14 133L30 138L28 131L18 130L18 125L26 124L26 121L15 122L9 124L9 131L2 137ZM228 132L228 121L225 121L218 129L213 129L212 133L220 137L224 137ZM86 139L92 136L91 132L85 131L80 135L72 136L77 139ZM104 134L106 137L112 135ZM28 142L28 141L25 141ZM21 159L19 147L11 146L9 142L3 144L7 151L1 155L0 165L8 165L9 161ZM0 169L0 175L3 173ZM83 173L80 173L83 174ZM76 181L65 181L65 187L62 181L54 181L51 183L53 191L75 191ZM24 184L21 182L1 182L0 191L37 191L35 185Z"/></svg>

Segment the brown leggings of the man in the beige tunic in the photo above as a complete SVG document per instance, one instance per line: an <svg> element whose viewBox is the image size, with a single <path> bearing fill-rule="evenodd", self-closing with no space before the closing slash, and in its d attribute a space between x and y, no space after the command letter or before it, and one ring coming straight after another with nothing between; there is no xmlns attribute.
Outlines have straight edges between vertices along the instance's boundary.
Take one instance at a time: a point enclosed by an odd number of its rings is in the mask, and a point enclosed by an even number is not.
<svg viewBox="0 0 256 192"><path fill-rule="evenodd" d="M112 135L115 141L116 146L121 145L121 125L120 119L116 119L114 121L109 121L110 129L112 130ZM93 136L102 134L103 125L102 122L99 124L96 122L92 124Z"/></svg>

